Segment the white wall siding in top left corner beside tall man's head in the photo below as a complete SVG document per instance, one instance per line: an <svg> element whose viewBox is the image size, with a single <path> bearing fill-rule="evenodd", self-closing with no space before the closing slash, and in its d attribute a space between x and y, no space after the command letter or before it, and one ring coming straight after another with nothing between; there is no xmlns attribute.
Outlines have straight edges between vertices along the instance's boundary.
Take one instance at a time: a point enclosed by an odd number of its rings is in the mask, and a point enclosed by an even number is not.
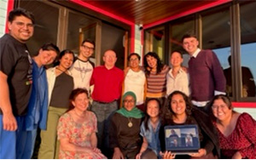
<svg viewBox="0 0 256 160"><path fill-rule="evenodd" d="M5 32L7 4L8 0L0 0L0 37L2 37Z"/></svg>

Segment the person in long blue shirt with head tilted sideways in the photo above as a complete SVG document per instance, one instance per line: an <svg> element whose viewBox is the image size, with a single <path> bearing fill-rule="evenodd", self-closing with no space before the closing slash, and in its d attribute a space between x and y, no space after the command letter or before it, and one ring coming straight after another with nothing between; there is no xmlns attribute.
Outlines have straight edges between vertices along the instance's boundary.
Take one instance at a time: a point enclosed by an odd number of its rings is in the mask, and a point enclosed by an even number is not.
<svg viewBox="0 0 256 160"><path fill-rule="evenodd" d="M19 148L22 159L32 158L38 128L45 130L48 112L48 83L45 66L52 64L60 49L53 43L45 43L33 57L32 94L26 115L26 131L22 134L22 146Z"/></svg>

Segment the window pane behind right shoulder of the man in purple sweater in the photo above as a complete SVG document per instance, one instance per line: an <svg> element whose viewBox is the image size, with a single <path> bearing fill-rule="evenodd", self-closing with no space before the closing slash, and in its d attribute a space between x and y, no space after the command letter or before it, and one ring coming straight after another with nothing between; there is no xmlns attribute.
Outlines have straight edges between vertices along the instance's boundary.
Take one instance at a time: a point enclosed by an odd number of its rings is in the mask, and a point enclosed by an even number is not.
<svg viewBox="0 0 256 160"><path fill-rule="evenodd" d="M226 92L232 94L232 76L228 57L230 56L230 6L210 9L201 14L202 49L212 49L224 69ZM218 33L218 34L217 34Z"/></svg>

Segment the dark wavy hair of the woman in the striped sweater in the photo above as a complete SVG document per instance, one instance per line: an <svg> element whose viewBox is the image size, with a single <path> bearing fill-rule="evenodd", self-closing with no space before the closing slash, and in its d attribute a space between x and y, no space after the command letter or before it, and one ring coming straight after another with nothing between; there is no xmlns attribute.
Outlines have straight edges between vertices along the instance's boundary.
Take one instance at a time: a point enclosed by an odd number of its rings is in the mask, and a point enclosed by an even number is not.
<svg viewBox="0 0 256 160"><path fill-rule="evenodd" d="M145 54L144 57L143 57L143 65L144 65L144 68L145 68L146 75L149 75L150 71L152 70L152 68L150 66L148 66L147 58L149 56L152 56L152 57L154 57L157 60L156 74L160 73L160 71L162 71L162 69L164 67L162 61L160 60L158 54L156 54L155 52L148 52L148 54ZM148 68L150 68L149 71L148 71Z"/></svg>

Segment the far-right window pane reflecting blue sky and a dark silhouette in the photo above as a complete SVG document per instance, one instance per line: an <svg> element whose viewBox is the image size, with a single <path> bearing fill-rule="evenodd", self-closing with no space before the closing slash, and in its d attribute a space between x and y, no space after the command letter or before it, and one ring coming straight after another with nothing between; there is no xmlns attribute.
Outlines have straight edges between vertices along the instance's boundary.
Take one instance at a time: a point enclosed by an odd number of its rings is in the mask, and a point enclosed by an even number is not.
<svg viewBox="0 0 256 160"><path fill-rule="evenodd" d="M241 3L241 73L243 97L255 97L256 2Z"/></svg>

